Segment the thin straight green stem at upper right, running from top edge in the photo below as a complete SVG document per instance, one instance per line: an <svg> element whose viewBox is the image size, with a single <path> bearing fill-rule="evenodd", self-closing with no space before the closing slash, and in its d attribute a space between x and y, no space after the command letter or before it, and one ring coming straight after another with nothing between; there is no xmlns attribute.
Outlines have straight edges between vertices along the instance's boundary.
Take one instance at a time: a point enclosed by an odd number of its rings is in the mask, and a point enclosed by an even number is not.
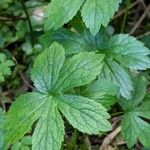
<svg viewBox="0 0 150 150"><path fill-rule="evenodd" d="M130 5L130 0L127 0L126 1L126 10L125 10L125 14L124 14L122 25L121 25L121 31L120 31L121 33L123 33L124 29L125 29L125 24L126 24L127 17L128 17L129 5Z"/></svg>

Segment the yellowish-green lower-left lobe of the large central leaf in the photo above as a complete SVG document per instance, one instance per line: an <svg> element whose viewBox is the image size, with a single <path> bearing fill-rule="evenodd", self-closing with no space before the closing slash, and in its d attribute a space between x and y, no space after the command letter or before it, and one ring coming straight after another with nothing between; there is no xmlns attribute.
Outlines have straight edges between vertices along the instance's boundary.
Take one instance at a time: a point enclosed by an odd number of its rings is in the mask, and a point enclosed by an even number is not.
<svg viewBox="0 0 150 150"><path fill-rule="evenodd" d="M41 93L27 93L13 102L6 116L6 141L8 144L17 142L39 118L47 100Z"/></svg>

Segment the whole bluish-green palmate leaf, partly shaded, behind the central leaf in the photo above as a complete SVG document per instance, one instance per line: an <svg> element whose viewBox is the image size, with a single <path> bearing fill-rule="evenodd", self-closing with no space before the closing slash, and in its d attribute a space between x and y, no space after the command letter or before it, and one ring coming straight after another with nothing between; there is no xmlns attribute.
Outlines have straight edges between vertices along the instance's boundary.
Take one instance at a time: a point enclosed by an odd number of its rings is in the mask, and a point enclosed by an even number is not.
<svg viewBox="0 0 150 150"><path fill-rule="evenodd" d="M47 47L51 42L57 41L66 48L68 55L83 51L105 54L100 76L115 83L120 88L120 94L126 99L130 99L134 89L128 69L145 70L150 68L150 58L148 57L150 50L132 36L118 34L110 37L108 31L109 28L101 29L96 36L93 36L87 29L81 33L60 29L47 32L41 36L40 42Z"/></svg>

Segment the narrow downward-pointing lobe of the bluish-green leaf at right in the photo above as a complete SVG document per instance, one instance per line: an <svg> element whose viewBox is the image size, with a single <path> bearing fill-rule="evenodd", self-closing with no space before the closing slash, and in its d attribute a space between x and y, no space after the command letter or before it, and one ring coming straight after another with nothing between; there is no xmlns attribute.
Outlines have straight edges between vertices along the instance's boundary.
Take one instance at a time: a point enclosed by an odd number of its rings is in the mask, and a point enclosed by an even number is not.
<svg viewBox="0 0 150 150"><path fill-rule="evenodd" d="M120 88L120 93L123 97L130 99L133 85L127 71L124 70L117 62L113 60L105 60L105 65L100 74L100 77L112 81Z"/></svg>

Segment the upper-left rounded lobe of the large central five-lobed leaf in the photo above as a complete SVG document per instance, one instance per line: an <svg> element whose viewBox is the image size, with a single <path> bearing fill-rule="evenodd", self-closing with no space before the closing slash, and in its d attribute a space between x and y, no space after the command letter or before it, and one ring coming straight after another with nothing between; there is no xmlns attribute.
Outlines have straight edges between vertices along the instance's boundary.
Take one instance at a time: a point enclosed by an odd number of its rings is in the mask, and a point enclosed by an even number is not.
<svg viewBox="0 0 150 150"><path fill-rule="evenodd" d="M58 43L53 43L36 58L31 71L31 79L37 90L48 93L53 88L64 60L64 49Z"/></svg>

